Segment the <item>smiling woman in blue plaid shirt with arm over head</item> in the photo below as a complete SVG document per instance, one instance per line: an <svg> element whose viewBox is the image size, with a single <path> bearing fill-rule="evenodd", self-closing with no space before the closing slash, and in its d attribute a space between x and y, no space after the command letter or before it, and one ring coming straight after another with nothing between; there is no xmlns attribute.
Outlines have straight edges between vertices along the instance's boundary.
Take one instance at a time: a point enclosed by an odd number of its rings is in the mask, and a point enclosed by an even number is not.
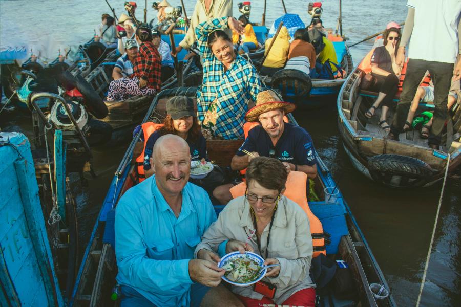
<svg viewBox="0 0 461 307"><path fill-rule="evenodd" d="M232 17L209 20L195 29L203 58L197 113L205 139L242 139L248 103L253 103L261 91L255 67L235 54L232 39L221 30L227 27L243 31Z"/></svg>

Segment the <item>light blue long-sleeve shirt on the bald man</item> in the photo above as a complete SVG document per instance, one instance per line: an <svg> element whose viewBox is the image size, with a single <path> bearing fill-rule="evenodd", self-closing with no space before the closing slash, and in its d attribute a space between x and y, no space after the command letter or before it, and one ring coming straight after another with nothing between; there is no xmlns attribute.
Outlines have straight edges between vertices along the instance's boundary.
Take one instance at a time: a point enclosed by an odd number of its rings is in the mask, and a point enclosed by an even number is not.
<svg viewBox="0 0 461 307"><path fill-rule="evenodd" d="M188 263L216 213L202 188L187 183L176 218L152 176L129 189L115 213L117 282L155 305L188 306Z"/></svg>

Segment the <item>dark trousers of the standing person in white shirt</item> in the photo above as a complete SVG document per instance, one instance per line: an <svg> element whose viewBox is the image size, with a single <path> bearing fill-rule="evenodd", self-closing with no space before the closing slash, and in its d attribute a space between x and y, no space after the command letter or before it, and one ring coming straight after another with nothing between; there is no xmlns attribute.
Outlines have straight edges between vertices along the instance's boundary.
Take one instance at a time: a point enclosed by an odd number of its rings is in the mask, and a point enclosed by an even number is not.
<svg viewBox="0 0 461 307"><path fill-rule="evenodd" d="M431 74L434 83L434 115L432 116L432 126L429 135L429 144L440 145L442 130L447 119L447 97L450 90L451 77L453 76L453 64L410 59L403 82L402 95L397 104L397 111L391 125L391 132L399 135L405 124L410 110L411 101L416 94L418 85L423 79L426 71Z"/></svg>

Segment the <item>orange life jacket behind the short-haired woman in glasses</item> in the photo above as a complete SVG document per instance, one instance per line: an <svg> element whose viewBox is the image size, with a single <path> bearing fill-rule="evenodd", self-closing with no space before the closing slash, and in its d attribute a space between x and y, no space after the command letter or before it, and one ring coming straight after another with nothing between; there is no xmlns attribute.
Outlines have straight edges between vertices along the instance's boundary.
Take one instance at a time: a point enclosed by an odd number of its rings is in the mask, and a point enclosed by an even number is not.
<svg viewBox="0 0 461 307"><path fill-rule="evenodd" d="M312 236L313 255L317 257L320 254L326 255L325 241L329 243L329 234L323 231L322 223L310 211L309 205L307 204L306 197L306 184L307 175L301 171L290 171L286 180L286 190L283 195L286 198L297 203L306 212L309 218L310 234ZM233 198L243 196L246 190L246 183L241 182L238 185L231 188L231 194Z"/></svg>

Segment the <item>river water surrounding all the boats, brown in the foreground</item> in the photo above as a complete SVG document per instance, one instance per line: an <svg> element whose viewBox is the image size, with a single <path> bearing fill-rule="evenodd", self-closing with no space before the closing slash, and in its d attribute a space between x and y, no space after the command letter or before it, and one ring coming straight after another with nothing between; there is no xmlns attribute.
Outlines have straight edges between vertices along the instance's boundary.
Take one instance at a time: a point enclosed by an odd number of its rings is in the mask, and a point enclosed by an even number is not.
<svg viewBox="0 0 461 307"><path fill-rule="evenodd" d="M179 0L169 0L179 6ZM234 16L239 16L234 1ZM119 16L123 1L110 0ZM149 2L151 3L151 2ZM260 22L263 1L253 1L250 20ZM288 13L298 13L309 23L307 3L285 0ZM402 23L406 16L403 0L343 1L343 32L354 43L370 34L384 30L389 21ZM435 4L436 2L434 2ZM143 16L144 4L138 2L138 19ZM190 16L195 1L184 0ZM323 1L322 15L325 27L335 28L339 14L339 1ZM283 12L280 1L268 0L266 25ZM0 0L0 47L40 49L47 57L57 56L58 49L87 41L102 13L110 13L105 1L76 0ZM148 9L148 20L155 17ZM354 63L371 49L372 40L351 48ZM402 306L414 305L423 275L426 254L431 238L436 207L442 184L416 190L395 190L370 182L355 170L341 143L337 125L335 101L317 111L295 113L299 124L311 134L317 151L325 161L333 177L357 218L372 252L383 270L392 294ZM12 120L8 125L23 125L29 119ZM4 125L0 125L4 126ZM26 131L27 133L28 131ZM89 179L89 189L78 195L81 249L86 247L100 205L128 144L94 149L97 179ZM422 306L461 305L461 180L451 178L447 182L434 246L427 273Z"/></svg>

